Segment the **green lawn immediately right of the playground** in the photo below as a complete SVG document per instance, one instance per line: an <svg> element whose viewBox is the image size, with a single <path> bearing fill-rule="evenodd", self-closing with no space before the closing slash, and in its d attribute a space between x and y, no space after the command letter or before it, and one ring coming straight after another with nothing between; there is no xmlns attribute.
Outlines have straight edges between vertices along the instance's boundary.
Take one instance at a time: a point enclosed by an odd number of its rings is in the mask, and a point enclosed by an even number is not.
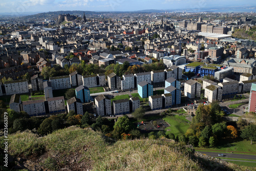
<svg viewBox="0 0 256 171"><path fill-rule="evenodd" d="M165 129L166 134L168 134L169 132L173 133L175 136L179 134L185 134L189 127L189 124L187 123L188 120L186 120L183 116L168 116L163 118L163 120L170 124L170 126L166 127Z"/></svg>

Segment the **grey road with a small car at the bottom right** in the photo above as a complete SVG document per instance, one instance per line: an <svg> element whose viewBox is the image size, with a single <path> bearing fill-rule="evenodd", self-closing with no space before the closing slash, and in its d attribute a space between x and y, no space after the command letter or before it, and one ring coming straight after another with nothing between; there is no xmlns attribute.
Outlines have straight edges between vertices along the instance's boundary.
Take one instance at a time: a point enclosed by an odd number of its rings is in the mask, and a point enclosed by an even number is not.
<svg viewBox="0 0 256 171"><path fill-rule="evenodd" d="M200 151L198 151L200 152ZM222 157L223 159L225 158L235 158L235 159L249 159L249 160L256 160L256 156L253 155L242 155L242 154L235 154L235 153L216 153L216 152L200 152L203 154L206 154L208 156L212 156L212 157L219 157L218 154L224 154L224 157Z"/></svg>

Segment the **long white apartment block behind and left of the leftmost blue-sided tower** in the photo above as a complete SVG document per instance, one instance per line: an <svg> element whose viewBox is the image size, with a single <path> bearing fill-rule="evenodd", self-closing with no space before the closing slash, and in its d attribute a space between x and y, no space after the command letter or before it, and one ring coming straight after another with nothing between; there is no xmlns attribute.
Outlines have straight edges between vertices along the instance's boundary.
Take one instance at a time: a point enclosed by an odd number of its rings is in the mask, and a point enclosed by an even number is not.
<svg viewBox="0 0 256 171"><path fill-rule="evenodd" d="M69 89L71 88L71 81L69 75L50 77L52 90Z"/></svg>

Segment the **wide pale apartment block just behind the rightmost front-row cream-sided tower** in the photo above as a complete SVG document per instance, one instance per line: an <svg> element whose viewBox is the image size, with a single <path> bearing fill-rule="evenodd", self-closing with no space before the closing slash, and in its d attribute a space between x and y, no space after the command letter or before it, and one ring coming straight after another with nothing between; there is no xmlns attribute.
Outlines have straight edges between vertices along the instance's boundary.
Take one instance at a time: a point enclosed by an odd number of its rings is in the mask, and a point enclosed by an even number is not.
<svg viewBox="0 0 256 171"><path fill-rule="evenodd" d="M220 82L218 86L222 87L223 96L238 93L238 81Z"/></svg>

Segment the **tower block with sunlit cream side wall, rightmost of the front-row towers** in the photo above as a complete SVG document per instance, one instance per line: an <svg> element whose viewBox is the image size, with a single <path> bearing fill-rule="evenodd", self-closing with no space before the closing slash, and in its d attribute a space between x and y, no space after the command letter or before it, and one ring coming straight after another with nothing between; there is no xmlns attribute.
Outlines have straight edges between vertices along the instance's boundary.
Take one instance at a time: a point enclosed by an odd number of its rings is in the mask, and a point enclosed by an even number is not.
<svg viewBox="0 0 256 171"><path fill-rule="evenodd" d="M217 85L209 85L204 90L204 97L208 99L209 102L215 100L222 101L222 89Z"/></svg>

